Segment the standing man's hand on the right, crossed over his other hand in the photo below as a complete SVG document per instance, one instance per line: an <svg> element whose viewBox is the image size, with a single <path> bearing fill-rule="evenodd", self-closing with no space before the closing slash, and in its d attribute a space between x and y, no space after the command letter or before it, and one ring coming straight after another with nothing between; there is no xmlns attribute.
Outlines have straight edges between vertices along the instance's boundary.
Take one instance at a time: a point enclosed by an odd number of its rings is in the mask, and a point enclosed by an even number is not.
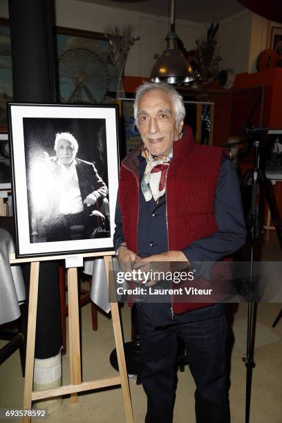
<svg viewBox="0 0 282 423"><path fill-rule="evenodd" d="M177 265L173 265L172 269L171 262L185 263L185 265L180 265L181 269L178 269ZM142 272L164 272L165 274L166 272L175 272L176 270L187 269L189 265L190 263L187 260L185 254L183 254L181 251L171 250L162 254L155 254L153 256L144 257L144 259L141 259L139 256L136 256L135 261L133 263L133 269L140 269ZM162 279L149 281L146 283L146 286L150 287L156 285L156 283L160 282L161 280Z"/></svg>

